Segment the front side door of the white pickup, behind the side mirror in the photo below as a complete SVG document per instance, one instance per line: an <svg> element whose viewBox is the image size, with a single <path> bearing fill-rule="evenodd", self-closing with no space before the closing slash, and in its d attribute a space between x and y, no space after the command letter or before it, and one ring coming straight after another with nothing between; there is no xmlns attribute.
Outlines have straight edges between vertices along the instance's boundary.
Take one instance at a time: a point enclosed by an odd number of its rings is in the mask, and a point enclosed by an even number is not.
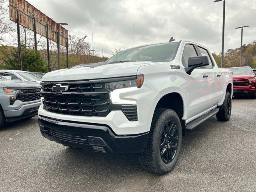
<svg viewBox="0 0 256 192"><path fill-rule="evenodd" d="M182 64L186 68L188 67L188 58L192 56L198 56L196 45L186 44L182 53ZM207 74L206 68L196 68L190 75L186 74L186 101L187 108L187 120L195 117L196 115L206 111L209 107L209 81L205 77Z"/></svg>

